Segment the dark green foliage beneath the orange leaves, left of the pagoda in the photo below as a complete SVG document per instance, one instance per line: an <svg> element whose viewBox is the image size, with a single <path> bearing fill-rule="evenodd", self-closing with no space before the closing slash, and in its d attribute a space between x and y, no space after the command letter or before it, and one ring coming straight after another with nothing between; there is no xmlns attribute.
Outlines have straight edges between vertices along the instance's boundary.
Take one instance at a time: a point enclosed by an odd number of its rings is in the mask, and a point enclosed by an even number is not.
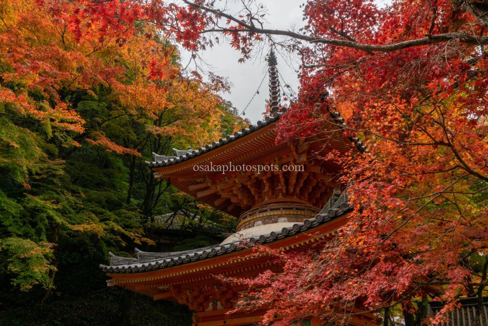
<svg viewBox="0 0 488 326"><path fill-rule="evenodd" d="M130 257L136 246L159 250L161 238L172 239L169 250L207 246L235 227L232 218L154 179L144 163L151 152L171 152L193 139L149 133L153 122L126 114L112 89L94 89L64 94L85 121L80 135L41 126L0 104L2 325L109 324L120 315L123 290L107 288L98 267L108 251ZM220 110L222 131L242 124L230 103ZM141 157L93 146L85 141L93 130ZM155 231L150 217L179 209L202 220L185 224L184 232ZM30 314L20 313L27 307ZM190 325L189 316L184 306L138 297L127 324Z"/></svg>

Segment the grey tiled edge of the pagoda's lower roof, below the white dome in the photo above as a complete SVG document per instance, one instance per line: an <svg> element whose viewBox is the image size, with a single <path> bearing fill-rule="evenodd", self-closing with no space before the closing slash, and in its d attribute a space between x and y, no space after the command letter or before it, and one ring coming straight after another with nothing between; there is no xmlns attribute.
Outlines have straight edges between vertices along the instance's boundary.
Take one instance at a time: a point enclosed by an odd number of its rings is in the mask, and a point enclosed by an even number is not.
<svg viewBox="0 0 488 326"><path fill-rule="evenodd" d="M351 206L347 200L347 190L340 196L334 192L325 205L324 209L315 217L305 219L303 223L295 223L291 227L285 227L282 230L276 230L259 237L252 237L246 240L232 242L229 244L216 244L204 248L198 248L186 251L151 253L143 252L136 249L137 258L118 257L109 253L110 265L100 265L100 268L106 273L137 273L151 270L162 269L174 265L184 264L191 261L198 261L210 257L228 254L237 250L242 250L246 246L255 243L269 243L279 239L293 236L298 233L313 229L316 226L324 224L334 218L346 214L350 211Z"/></svg>

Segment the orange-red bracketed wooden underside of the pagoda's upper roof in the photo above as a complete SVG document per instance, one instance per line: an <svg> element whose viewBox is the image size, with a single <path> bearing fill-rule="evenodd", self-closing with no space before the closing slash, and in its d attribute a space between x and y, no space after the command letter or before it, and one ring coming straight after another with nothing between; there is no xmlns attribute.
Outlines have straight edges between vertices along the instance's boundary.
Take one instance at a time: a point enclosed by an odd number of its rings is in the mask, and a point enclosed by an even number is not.
<svg viewBox="0 0 488 326"><path fill-rule="evenodd" d="M225 144L211 152L195 156L178 164L154 167L159 178L185 193L202 200L227 214L240 217L245 211L267 201L301 201L321 208L333 188L341 187L335 181L340 167L324 161L328 152L347 152L350 141L342 132L331 132L317 141L307 139L293 144L276 144L276 123ZM333 126L331 126L331 129ZM195 166L212 164L233 166L283 165L305 167L300 172L195 171Z"/></svg>

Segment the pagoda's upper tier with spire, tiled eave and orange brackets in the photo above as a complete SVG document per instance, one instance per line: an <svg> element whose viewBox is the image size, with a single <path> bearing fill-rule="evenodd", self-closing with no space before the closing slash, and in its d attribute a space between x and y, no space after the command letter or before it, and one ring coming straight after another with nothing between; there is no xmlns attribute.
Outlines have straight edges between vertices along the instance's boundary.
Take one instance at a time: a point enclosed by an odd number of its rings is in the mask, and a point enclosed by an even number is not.
<svg viewBox="0 0 488 326"><path fill-rule="evenodd" d="M269 116L198 149L173 149L173 155L153 153L153 161L147 162L156 178L166 180L226 214L239 217L238 230L259 226L260 220L264 224L283 222L284 218L278 217L280 211L288 212L287 222L315 216L330 192L344 187L337 183L342 166L323 158L332 151L346 154L354 147L359 152L365 151L358 138L343 132L345 119L341 114L329 111L323 103L314 106L318 114L328 115L321 130L306 139L277 143L280 128L277 122L286 108L280 101L279 74L273 51L267 60ZM286 169L290 166L301 170ZM268 170L261 173L249 170L258 167Z"/></svg>

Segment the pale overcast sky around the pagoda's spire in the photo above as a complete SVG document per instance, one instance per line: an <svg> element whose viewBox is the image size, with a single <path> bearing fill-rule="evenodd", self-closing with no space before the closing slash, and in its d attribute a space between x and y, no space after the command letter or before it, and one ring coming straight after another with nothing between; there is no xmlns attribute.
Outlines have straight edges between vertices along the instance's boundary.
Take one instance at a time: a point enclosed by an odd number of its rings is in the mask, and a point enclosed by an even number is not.
<svg viewBox="0 0 488 326"><path fill-rule="evenodd" d="M218 4L220 1L216 1ZM302 9L300 4L303 0L262 0L262 3L268 8L268 15L266 15L266 26L290 29L293 26L302 26ZM237 5L231 5L230 11L238 10ZM232 12L235 13L235 12ZM264 50L268 50L265 47ZM182 51L182 64L186 65L190 59L190 53ZM206 64L211 65L211 70L223 77L227 77L232 84L230 93L221 94L224 99L231 101L234 107L239 112L242 112L247 103L258 89L259 84L264 78L264 82L259 89L259 94L255 96L249 107L245 110L244 117L248 118L252 123L263 118L265 99L269 97L268 92L268 76L267 64L264 61L263 53L256 53L253 58L240 64L238 60L242 57L240 52L232 48L228 43L221 43L211 49L200 51L199 55L203 58ZM297 72L298 63L293 58L289 58L289 54L284 53L286 58L278 54L278 71L283 76L285 82L290 85L292 90L296 93L298 89ZM289 62L289 61L295 62ZM288 61L288 62L285 62ZM190 68L194 69L194 64ZM208 69L208 67L203 67ZM283 82L281 82L283 84ZM282 96L283 97L283 96Z"/></svg>

